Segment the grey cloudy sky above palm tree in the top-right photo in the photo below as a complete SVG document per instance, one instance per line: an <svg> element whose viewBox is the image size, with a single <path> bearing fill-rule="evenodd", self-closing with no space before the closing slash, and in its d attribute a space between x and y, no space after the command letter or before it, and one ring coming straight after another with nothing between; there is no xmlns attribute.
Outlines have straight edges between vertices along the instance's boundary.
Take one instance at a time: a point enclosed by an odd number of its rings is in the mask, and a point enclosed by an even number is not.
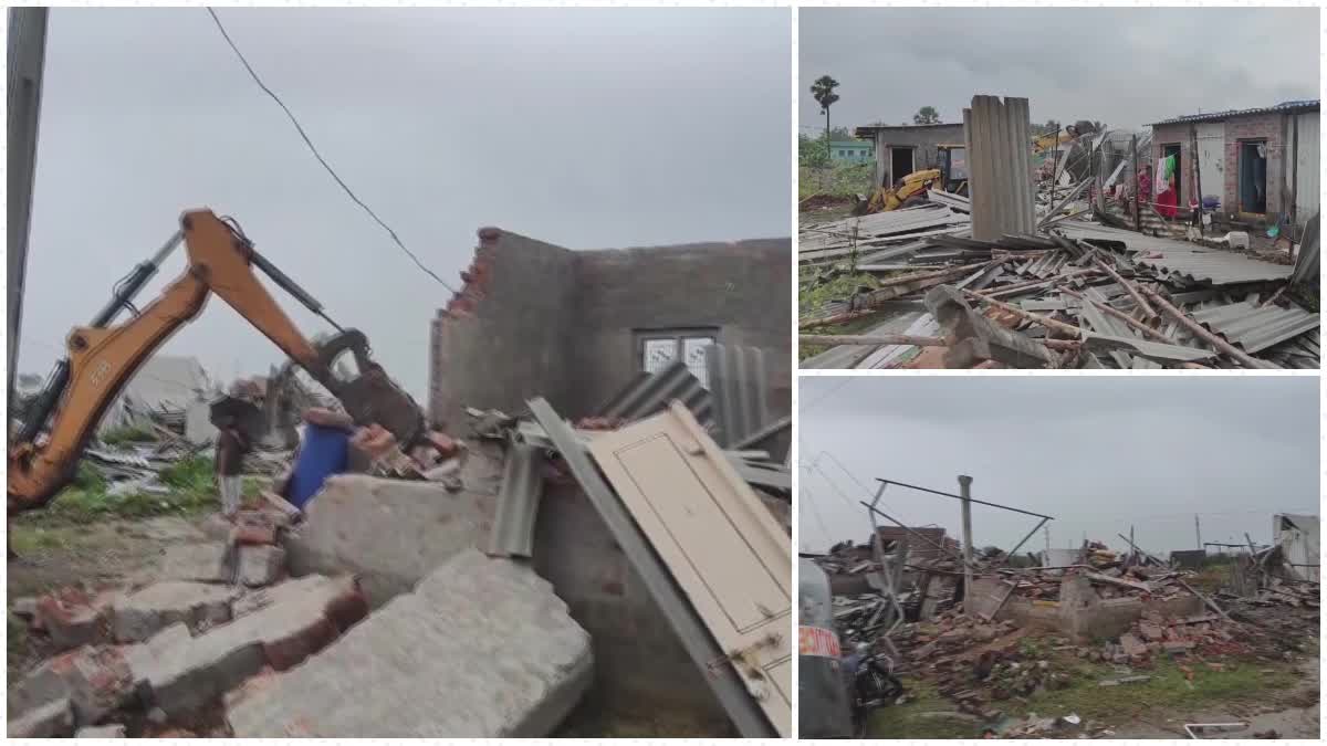
<svg viewBox="0 0 1327 746"><path fill-rule="evenodd" d="M847 127L922 106L962 122L977 93L1028 98L1034 122L1133 129L1319 92L1318 8L803 8L798 28L811 135L824 74L841 84L831 125Z"/></svg>

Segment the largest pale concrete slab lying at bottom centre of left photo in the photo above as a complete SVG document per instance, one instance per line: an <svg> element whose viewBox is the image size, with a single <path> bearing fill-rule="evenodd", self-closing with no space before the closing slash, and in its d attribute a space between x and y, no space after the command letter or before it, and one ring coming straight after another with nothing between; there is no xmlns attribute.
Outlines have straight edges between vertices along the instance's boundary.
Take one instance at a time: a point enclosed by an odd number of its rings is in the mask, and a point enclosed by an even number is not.
<svg viewBox="0 0 1327 746"><path fill-rule="evenodd" d="M541 737L592 669L589 634L545 580L466 550L261 696L242 698L230 723L236 738Z"/></svg>

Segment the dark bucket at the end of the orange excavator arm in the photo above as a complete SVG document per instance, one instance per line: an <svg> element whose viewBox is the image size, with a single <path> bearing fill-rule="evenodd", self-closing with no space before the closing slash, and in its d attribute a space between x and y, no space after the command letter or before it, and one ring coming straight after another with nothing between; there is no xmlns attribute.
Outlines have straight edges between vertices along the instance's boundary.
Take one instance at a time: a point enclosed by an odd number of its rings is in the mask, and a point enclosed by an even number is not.
<svg viewBox="0 0 1327 746"><path fill-rule="evenodd" d="M332 392L356 423L381 425L395 435L397 443L403 449L423 435L423 410L381 365L373 361L369 340L362 332L346 329L316 344L314 348L318 352L321 370L309 373ZM336 361L346 352L354 357L358 376L342 380L338 377Z"/></svg>

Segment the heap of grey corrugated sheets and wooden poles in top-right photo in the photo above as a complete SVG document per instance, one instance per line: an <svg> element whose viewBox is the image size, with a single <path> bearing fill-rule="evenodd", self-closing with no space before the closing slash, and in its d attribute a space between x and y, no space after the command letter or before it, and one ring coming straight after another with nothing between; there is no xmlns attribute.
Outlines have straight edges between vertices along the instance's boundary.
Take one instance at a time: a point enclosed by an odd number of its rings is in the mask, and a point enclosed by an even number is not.
<svg viewBox="0 0 1327 746"><path fill-rule="evenodd" d="M997 119L1003 126L991 130ZM809 366L1320 368L1316 300L1295 291L1316 281L1315 263L1314 272L1296 273L1285 248L1254 240L1262 231L1212 224L1225 219L1213 208L1204 208L1201 230L1193 219L1180 223L1182 215L1161 218L1147 199L1135 212L1139 179L1119 133L1075 131L1043 161L1030 200L1022 170L1007 169L1032 155L1009 135L1013 126L1026 129L1026 100L975 97L965 123L970 194L933 190L918 207L803 228L800 260L813 269L802 277L802 295L819 297L805 304L799 327L815 337L805 345L824 350ZM954 212L965 202L970 223ZM1307 234L1311 254L1316 220ZM836 292L825 299L825 288ZM922 308L933 288L963 292L971 313L1028 349L999 354L1019 345L995 345L991 329ZM918 319L917 311L929 313ZM877 321L880 344L868 345L869 333L836 333L848 321L860 329L867 317ZM925 336L966 349L893 340L901 329L888 325L900 319L920 328L938 320ZM851 340L835 344L835 336Z"/></svg>

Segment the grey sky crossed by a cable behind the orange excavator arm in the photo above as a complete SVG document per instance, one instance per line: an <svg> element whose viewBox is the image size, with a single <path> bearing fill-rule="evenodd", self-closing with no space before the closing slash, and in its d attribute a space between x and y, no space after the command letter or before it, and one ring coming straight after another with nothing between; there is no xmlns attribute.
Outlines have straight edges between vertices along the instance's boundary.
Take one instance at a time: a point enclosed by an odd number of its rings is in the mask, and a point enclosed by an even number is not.
<svg viewBox="0 0 1327 746"><path fill-rule="evenodd" d="M218 13L453 287L482 226L569 248L790 232L787 8ZM199 206L239 219L423 401L429 321L450 293L322 171L207 12L52 11L19 370L45 373L69 328ZM275 295L307 332L328 329ZM218 299L163 352L224 382L281 360Z"/></svg>

